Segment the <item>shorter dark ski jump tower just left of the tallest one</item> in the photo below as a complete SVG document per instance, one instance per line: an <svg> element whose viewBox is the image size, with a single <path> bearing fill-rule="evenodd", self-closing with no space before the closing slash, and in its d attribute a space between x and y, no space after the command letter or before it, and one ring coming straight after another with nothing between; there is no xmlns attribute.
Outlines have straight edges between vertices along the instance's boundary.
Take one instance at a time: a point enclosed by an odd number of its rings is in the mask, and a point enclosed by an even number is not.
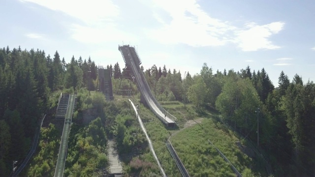
<svg viewBox="0 0 315 177"><path fill-rule="evenodd" d="M110 69L104 69L103 66L98 66L98 80L99 91L105 95L106 100L113 100L112 73Z"/></svg>

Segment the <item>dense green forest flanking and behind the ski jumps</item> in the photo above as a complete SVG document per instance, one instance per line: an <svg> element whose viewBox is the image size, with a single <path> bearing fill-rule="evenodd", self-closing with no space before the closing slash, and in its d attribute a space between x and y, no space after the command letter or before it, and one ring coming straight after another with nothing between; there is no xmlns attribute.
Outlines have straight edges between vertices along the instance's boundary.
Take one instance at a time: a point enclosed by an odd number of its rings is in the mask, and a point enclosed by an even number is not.
<svg viewBox="0 0 315 177"><path fill-rule="evenodd" d="M134 84L130 88L129 82L134 81L129 66L121 69L117 62L107 68L112 71L116 94L124 95L126 92L120 90L132 89L140 97ZM275 176L314 176L313 81L304 83L298 74L290 80L281 72L275 87L264 68L255 71L250 66L239 71L214 72L204 63L195 75L189 72L182 75L181 71L167 69L165 65L148 69L141 66L141 69L158 101L192 104L198 114L218 111L223 122L268 157ZM96 90L97 78L97 66L91 58L73 56L66 63L57 51L50 57L38 49L10 50L8 46L0 49L0 174L9 174L12 161L27 154L38 120L54 104L49 99L52 93L62 89ZM117 121L122 119L127 118L120 116ZM109 134L110 128L98 131ZM124 126L118 128L127 131ZM119 138L122 135L118 132ZM81 134L89 134L89 130L82 129ZM124 138L119 143L123 144Z"/></svg>

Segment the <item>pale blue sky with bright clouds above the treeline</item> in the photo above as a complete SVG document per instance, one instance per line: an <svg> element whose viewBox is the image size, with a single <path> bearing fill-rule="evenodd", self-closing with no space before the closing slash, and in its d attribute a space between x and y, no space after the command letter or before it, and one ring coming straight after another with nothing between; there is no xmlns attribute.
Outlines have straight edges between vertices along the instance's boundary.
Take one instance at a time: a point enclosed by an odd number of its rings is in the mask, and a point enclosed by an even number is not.
<svg viewBox="0 0 315 177"><path fill-rule="evenodd" d="M281 71L315 81L314 9L314 0L0 0L0 47L123 68L118 45L129 44L145 69L264 67L277 87Z"/></svg>

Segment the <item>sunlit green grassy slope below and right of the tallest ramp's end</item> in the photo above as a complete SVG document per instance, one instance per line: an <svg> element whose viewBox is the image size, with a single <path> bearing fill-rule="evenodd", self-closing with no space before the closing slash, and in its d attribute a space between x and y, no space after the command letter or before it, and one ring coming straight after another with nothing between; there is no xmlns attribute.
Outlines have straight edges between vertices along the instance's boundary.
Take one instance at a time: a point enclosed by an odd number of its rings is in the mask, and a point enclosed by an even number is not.
<svg viewBox="0 0 315 177"><path fill-rule="evenodd" d="M238 139L230 132L216 128L212 118L193 125L171 138L171 142L192 177L233 177L230 165L223 160L210 140L242 173L253 163L252 159L235 145Z"/></svg>

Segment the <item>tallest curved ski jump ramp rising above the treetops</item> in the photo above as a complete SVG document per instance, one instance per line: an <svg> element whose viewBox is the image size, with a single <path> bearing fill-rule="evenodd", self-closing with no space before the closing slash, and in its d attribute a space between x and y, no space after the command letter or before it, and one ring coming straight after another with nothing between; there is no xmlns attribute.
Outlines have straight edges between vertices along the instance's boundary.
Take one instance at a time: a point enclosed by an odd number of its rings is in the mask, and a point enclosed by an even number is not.
<svg viewBox="0 0 315 177"><path fill-rule="evenodd" d="M126 64L130 65L135 78L135 83L141 92L142 98L151 111L167 126L175 126L176 118L161 107L157 99L153 96L151 89L140 69L141 60L134 47L123 45L118 47Z"/></svg>

